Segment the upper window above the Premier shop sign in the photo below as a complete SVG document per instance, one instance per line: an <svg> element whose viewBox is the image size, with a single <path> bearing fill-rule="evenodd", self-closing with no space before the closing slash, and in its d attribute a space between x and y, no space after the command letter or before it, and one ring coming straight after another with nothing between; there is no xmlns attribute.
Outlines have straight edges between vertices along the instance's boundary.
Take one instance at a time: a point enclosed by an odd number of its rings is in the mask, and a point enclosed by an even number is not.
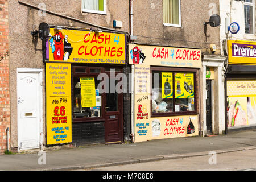
<svg viewBox="0 0 256 182"><path fill-rule="evenodd" d="M245 0L245 34L254 34L254 4L253 0Z"/></svg>

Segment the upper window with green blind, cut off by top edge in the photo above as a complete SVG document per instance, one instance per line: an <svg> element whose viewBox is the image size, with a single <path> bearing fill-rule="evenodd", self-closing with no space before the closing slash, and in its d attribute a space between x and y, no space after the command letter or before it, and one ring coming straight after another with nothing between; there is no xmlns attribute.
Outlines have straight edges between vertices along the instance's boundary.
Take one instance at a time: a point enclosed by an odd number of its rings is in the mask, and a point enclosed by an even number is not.
<svg viewBox="0 0 256 182"><path fill-rule="evenodd" d="M106 0L82 0L82 12L106 14Z"/></svg>

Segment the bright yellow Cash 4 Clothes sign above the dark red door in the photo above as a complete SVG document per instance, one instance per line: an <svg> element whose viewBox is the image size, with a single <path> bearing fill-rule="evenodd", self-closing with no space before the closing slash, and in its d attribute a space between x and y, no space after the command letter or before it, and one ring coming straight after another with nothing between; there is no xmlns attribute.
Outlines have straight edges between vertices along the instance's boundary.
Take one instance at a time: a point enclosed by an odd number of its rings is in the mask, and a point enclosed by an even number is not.
<svg viewBox="0 0 256 182"><path fill-rule="evenodd" d="M81 30L50 30L49 61L125 64L125 35Z"/></svg>

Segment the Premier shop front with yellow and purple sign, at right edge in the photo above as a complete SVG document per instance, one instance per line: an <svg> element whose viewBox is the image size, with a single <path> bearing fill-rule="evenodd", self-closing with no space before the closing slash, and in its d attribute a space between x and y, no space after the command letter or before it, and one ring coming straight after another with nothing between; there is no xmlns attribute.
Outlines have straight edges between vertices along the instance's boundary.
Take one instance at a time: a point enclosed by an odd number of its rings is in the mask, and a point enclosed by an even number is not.
<svg viewBox="0 0 256 182"><path fill-rule="evenodd" d="M256 42L228 40L226 127L228 131L256 125Z"/></svg>

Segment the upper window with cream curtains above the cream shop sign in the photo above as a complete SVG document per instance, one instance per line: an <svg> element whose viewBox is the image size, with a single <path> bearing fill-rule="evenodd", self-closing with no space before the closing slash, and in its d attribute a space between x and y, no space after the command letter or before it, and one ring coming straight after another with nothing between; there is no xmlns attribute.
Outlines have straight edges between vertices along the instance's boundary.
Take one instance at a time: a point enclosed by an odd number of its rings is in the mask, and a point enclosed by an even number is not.
<svg viewBox="0 0 256 182"><path fill-rule="evenodd" d="M181 27L180 0L163 0L163 23Z"/></svg>

